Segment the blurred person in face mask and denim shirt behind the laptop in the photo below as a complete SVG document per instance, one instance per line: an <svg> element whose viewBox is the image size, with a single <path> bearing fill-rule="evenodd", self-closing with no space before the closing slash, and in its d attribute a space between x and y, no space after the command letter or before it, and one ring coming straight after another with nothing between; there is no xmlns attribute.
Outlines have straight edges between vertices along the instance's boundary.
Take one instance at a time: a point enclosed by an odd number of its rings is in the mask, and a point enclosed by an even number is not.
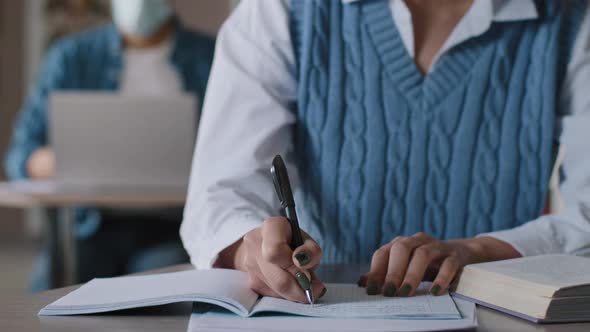
<svg viewBox="0 0 590 332"><path fill-rule="evenodd" d="M54 91L112 91L121 95L196 94L201 100L214 40L185 28L167 0L112 0L114 24L56 42L14 126L5 168L12 180L51 178L55 157L47 141L48 97ZM78 281L184 262L178 236L182 211L76 211ZM51 285L49 259L33 271L33 291Z"/></svg>

